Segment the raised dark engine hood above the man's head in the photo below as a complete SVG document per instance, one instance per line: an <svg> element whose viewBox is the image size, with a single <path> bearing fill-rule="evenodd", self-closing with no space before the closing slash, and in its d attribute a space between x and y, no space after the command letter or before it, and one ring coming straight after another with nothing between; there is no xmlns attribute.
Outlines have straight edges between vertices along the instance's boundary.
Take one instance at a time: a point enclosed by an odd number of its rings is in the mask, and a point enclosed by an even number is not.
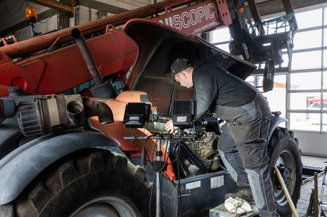
<svg viewBox="0 0 327 217"><path fill-rule="evenodd" d="M124 31L139 46L139 55L125 89L148 92L151 102L157 104L159 111L164 113L168 111L173 92L173 84L169 82L170 67L176 58L211 58L243 80L256 70L256 65L163 23L132 19L125 24ZM178 90L173 97L186 99L193 97L193 93L190 90Z"/></svg>

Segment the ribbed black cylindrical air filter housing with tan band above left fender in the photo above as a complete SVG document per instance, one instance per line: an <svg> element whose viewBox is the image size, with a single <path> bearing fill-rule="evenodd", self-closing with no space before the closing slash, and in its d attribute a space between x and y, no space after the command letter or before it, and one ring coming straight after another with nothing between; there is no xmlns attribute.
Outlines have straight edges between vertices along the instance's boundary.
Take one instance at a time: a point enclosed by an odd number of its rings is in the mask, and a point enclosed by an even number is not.
<svg viewBox="0 0 327 217"><path fill-rule="evenodd" d="M81 95L47 95L20 102L17 117L25 137L59 134L84 129L89 117L99 117L100 125L114 122L111 109L104 102ZM86 128L88 129L88 128Z"/></svg>

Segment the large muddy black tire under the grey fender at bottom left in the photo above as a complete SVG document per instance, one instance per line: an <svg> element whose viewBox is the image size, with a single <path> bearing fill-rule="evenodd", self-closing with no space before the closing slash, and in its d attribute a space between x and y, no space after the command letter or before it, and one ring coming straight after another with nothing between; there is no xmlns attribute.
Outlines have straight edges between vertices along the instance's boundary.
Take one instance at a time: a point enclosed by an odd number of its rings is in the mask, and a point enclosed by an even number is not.
<svg viewBox="0 0 327 217"><path fill-rule="evenodd" d="M19 217L149 216L146 171L126 157L88 149L38 176L15 201Z"/></svg>

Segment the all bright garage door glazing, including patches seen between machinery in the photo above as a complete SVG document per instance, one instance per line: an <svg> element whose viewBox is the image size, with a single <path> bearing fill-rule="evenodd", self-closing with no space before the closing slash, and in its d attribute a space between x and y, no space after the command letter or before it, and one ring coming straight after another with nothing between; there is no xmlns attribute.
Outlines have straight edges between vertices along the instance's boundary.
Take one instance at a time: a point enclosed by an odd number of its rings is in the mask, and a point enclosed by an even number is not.
<svg viewBox="0 0 327 217"><path fill-rule="evenodd" d="M294 36L291 70L288 55L275 75L271 92L263 93L271 110L280 110L286 127L306 132L327 132L327 7L296 12L298 31ZM228 28L213 31L213 44L228 51ZM246 81L261 86L262 76ZM260 89L259 89L260 90Z"/></svg>

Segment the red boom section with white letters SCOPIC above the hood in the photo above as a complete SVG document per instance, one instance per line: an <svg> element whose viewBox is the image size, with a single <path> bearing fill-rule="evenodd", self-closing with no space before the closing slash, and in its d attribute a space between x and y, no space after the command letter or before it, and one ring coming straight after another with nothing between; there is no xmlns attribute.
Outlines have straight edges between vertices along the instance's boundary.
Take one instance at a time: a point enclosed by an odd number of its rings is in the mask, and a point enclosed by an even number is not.
<svg viewBox="0 0 327 217"><path fill-rule="evenodd" d="M151 21L165 23L187 35L197 35L221 25L215 8L213 1L203 1L176 11L167 8L166 14L152 18Z"/></svg>

